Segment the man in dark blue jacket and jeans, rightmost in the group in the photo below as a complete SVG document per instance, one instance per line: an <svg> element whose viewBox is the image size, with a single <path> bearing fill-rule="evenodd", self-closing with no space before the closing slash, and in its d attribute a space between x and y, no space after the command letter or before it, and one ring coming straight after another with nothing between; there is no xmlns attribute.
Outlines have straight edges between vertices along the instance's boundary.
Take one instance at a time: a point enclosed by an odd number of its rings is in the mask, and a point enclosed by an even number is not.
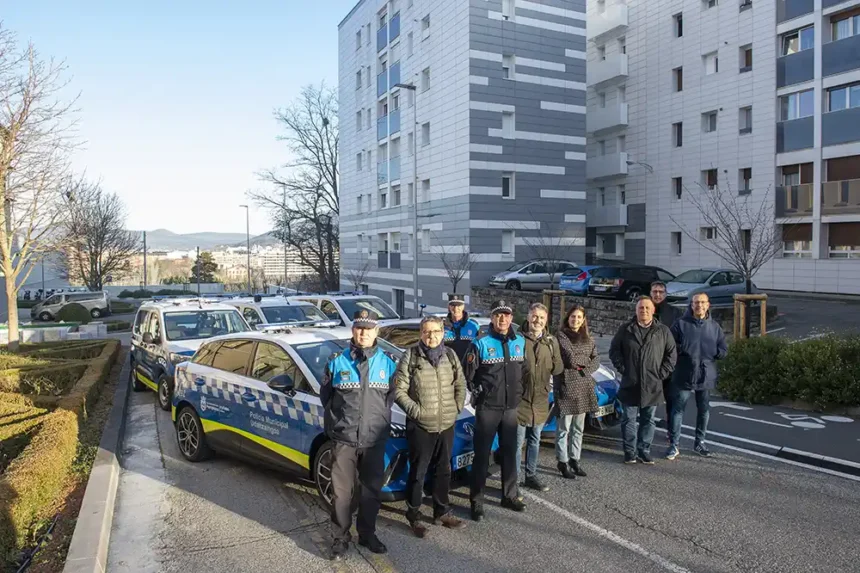
<svg viewBox="0 0 860 573"><path fill-rule="evenodd" d="M681 421L690 395L696 394L696 444L700 456L711 452L705 446L705 433L710 417L710 393L717 385L716 361L728 353L726 335L722 327L711 318L708 295L693 295L690 309L681 320L672 325L672 335L678 349L678 361L672 374L672 424L669 428L669 451L666 459L678 457Z"/></svg>

